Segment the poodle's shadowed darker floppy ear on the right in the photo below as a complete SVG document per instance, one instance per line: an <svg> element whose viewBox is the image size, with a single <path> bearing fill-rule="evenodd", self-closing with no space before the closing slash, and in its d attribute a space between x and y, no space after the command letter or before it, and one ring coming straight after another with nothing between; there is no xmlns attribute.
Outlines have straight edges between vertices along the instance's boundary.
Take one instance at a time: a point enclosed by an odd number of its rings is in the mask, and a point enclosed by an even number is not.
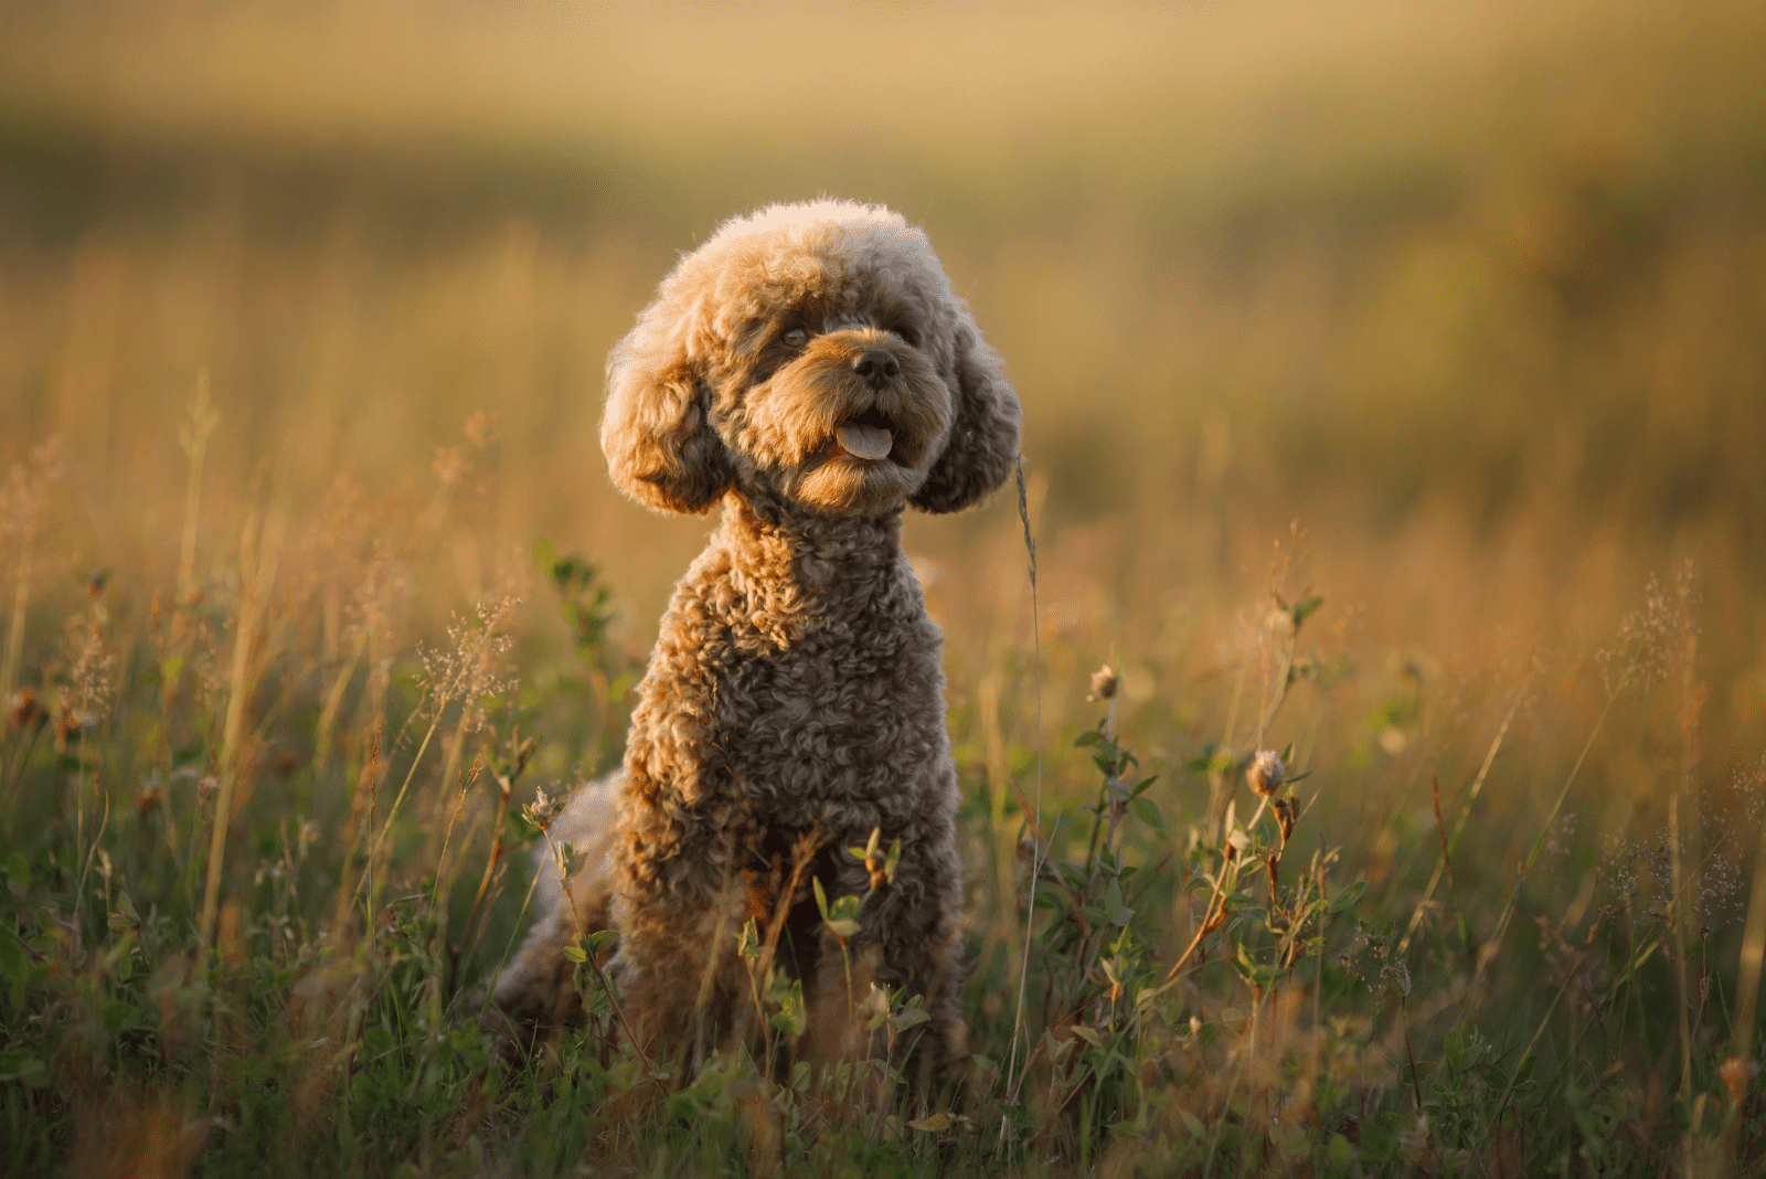
<svg viewBox="0 0 1766 1179"><path fill-rule="evenodd" d="M982 341L968 311L959 312L955 348L957 417L945 452L909 498L922 512L959 512L977 503L1017 462L1017 394L1000 376L1000 353Z"/></svg>

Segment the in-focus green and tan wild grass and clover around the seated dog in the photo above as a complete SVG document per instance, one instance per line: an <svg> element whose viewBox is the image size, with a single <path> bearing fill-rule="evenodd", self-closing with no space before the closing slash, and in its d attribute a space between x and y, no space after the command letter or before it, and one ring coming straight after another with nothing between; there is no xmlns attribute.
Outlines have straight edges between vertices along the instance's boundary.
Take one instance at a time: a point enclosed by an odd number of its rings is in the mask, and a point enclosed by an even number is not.
<svg viewBox="0 0 1766 1179"><path fill-rule="evenodd" d="M212 413L200 385L192 471ZM0 743L11 1170L1762 1158L1731 964L1766 782L1701 773L1690 568L1651 581L1600 651L1460 674L1415 655L1381 669L1293 590L1303 559L1280 559L1247 590L1261 605L1236 620L1213 736L1185 724L1157 755L1137 748L1160 706L1134 702L1130 660L1086 683L1054 671L1081 655L1056 635L1038 676L1035 635L1005 623L977 665L954 651L975 964L961 1077L913 1091L881 1061L793 1064L802 995L752 930L782 1066L643 1057L586 955L590 1029L512 1050L484 987L532 895L546 798L526 800L616 761L639 651L600 572L551 545L426 644L419 602L489 515L452 494L494 452L484 431L429 485L378 499L339 480L295 512L272 478L235 545L180 545L161 586L101 574L78 593L42 574L71 567L49 528L78 496L60 450L14 469L11 620L35 625L9 630L25 642ZM1669 761L1667 826L1589 847L1566 807L1634 750ZM837 928L864 898L821 902ZM888 1034L920 1018L909 995L858 999Z"/></svg>

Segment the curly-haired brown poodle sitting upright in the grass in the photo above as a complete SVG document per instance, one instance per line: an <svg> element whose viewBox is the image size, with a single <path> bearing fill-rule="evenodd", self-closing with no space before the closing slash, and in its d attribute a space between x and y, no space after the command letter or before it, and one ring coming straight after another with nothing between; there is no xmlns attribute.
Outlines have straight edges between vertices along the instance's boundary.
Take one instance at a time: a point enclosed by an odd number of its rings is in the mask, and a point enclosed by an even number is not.
<svg viewBox="0 0 1766 1179"><path fill-rule="evenodd" d="M675 586L623 770L553 826L579 852L576 914L544 863L505 1011L576 1018L563 950L615 928L608 972L638 1036L662 1055L728 1047L756 1027L740 930L779 914L819 1050L851 1050L818 1013L841 1024L864 994L846 994L809 877L865 895L848 849L878 830L901 861L848 939L855 987L924 995L924 1043L961 1052L957 775L901 512L977 503L1017 439L998 355L899 214L774 205L682 258L613 349L600 445L629 496L722 503L722 528Z"/></svg>

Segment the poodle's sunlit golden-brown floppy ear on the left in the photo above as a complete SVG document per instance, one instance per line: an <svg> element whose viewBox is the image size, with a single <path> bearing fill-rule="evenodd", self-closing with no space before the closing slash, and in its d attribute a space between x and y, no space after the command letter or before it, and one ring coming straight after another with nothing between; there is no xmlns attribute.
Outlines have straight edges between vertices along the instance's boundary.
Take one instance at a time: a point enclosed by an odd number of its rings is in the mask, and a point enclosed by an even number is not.
<svg viewBox="0 0 1766 1179"><path fill-rule="evenodd" d="M613 482L638 503L699 515L735 473L706 418L710 392L698 369L646 335L639 325L608 357L600 450Z"/></svg>

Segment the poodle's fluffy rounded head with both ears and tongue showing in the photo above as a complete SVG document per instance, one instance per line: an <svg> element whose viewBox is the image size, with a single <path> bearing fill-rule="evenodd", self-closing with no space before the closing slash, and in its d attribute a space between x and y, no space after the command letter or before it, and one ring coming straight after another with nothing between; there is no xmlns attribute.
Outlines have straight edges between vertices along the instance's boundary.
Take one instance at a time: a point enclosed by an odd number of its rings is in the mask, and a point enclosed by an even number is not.
<svg viewBox="0 0 1766 1179"><path fill-rule="evenodd" d="M666 512L726 491L825 515L955 512L1005 482L1019 406L920 229L772 205L680 259L608 360L613 480Z"/></svg>

